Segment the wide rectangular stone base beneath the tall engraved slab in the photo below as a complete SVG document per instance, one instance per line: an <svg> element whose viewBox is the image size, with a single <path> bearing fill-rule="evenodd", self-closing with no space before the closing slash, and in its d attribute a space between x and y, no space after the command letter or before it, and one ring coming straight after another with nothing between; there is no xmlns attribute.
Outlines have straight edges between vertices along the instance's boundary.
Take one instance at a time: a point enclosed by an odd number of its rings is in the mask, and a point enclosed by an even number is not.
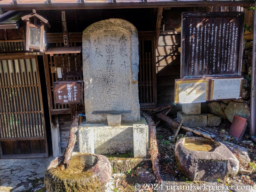
<svg viewBox="0 0 256 192"><path fill-rule="evenodd" d="M145 141L141 141L139 144L144 146L137 146L138 144L135 142L135 140L138 140L139 137L143 137L143 135L138 136L137 133L134 133L133 127L136 127L136 125L143 125L142 127L145 129ZM88 131L86 132L85 130L87 129L93 131L93 133ZM78 149L80 152L88 150L87 145L89 145L89 142L93 145L93 147L91 147L91 150L93 149L93 151L90 153L95 154L130 153L134 152L134 145L136 145L136 150L138 147L145 147L145 150L149 151L148 125L144 117L141 117L140 121L137 121L136 123L127 123L120 126L108 126L107 124L87 124L82 122L78 127L78 130Z"/></svg>

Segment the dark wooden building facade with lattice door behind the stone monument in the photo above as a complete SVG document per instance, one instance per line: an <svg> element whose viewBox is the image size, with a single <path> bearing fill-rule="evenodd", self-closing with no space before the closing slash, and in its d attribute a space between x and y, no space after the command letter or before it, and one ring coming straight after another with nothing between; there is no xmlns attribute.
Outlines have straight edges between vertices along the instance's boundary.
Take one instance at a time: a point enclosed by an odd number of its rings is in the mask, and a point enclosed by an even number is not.
<svg viewBox="0 0 256 192"><path fill-rule="evenodd" d="M26 22L19 21L18 28L8 28L0 16L1 158L47 157L49 153L59 156L66 147L73 115L82 105L55 104L54 82L82 79L82 32L90 24L121 18L137 28L140 107L154 108L174 102L174 80L180 78L181 13L237 11L238 6L249 7L253 3L0 0L3 13L21 13L22 17L35 9L51 25L45 27L46 50L27 51ZM56 58L68 55L81 58L81 76L58 78Z"/></svg>

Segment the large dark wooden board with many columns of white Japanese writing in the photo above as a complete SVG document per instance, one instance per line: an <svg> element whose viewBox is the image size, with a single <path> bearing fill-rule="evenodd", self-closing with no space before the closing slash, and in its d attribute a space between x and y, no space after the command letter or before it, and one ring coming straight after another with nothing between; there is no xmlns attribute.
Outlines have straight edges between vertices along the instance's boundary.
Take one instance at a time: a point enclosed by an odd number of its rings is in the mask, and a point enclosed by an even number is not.
<svg viewBox="0 0 256 192"><path fill-rule="evenodd" d="M182 13L181 78L241 76L244 13Z"/></svg>

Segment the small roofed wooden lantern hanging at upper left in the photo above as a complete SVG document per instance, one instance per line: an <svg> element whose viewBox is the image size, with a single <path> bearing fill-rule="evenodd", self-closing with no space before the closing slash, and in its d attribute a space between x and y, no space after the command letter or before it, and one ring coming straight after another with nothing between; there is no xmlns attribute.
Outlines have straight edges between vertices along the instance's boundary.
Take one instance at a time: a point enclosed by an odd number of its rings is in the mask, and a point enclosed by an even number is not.
<svg viewBox="0 0 256 192"><path fill-rule="evenodd" d="M34 19L33 19L34 18ZM33 13L25 15L21 18L27 22L27 32L26 32L26 50L33 51L34 49L39 49L40 51L45 51L45 30L44 26L50 27L48 21L42 16L38 15L33 9ZM38 24L38 20L40 24Z"/></svg>

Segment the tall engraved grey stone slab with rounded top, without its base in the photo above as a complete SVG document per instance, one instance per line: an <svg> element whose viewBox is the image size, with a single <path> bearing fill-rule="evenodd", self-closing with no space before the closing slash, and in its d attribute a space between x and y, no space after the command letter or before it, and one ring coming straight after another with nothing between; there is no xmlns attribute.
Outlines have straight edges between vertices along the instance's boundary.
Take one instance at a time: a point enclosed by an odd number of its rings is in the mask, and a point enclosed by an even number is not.
<svg viewBox="0 0 256 192"><path fill-rule="evenodd" d="M82 39L87 123L107 123L107 114L122 114L122 123L139 121L137 29L109 19L87 27Z"/></svg>

